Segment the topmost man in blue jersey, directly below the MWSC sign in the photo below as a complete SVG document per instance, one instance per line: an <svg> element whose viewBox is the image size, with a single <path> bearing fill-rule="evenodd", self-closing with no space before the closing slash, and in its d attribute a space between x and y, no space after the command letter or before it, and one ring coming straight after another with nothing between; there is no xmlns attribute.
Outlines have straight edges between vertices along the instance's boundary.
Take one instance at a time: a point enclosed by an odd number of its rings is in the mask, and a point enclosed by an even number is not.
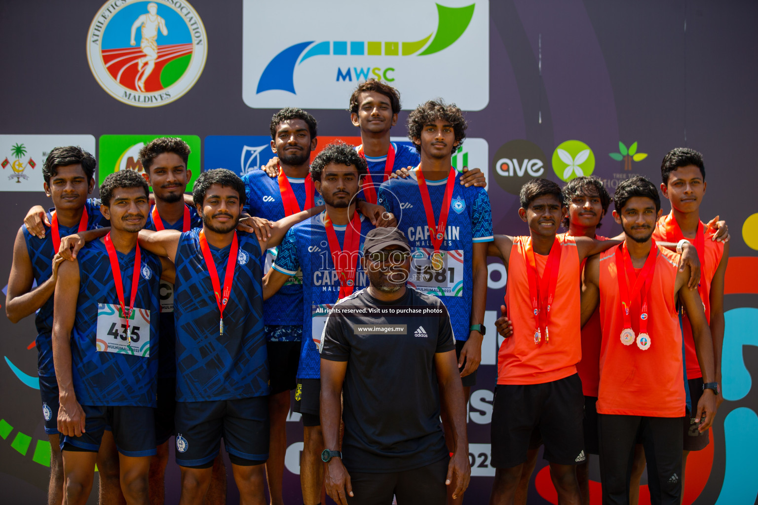
<svg viewBox="0 0 758 505"><path fill-rule="evenodd" d="M365 178L359 197L375 204L382 182L388 177L405 178L406 169L418 165L418 151L409 145L390 142L390 129L397 123L400 112L400 94L387 83L377 79L360 83L350 95L348 110L352 125L361 129L361 145L356 149L365 156L370 175ZM487 185L484 173L478 168L463 167L462 172L459 177L462 185Z"/></svg>

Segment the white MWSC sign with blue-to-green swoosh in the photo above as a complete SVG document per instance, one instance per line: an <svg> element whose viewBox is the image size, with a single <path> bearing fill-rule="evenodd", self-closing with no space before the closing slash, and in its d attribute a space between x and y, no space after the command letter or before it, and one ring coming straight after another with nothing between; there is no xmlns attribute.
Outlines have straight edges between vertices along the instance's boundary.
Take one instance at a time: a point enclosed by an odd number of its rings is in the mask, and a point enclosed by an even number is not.
<svg viewBox="0 0 758 505"><path fill-rule="evenodd" d="M387 0L382 7L402 15L371 27L356 23L374 14L371 4L336 0L329 9L314 9L312 2L293 0L288 8L308 12L309 22L298 27L302 42L292 44L260 37L261 26L267 26L267 21L276 23L280 17L276 4L245 0L245 103L253 108L344 108L346 94L360 81L374 78L401 87L403 101L410 106L428 99L424 82L431 73L440 74L450 61L456 61L456 73L466 75L467 86L476 89L462 96L456 79L435 79L437 94L456 98L465 110L478 111L487 105L487 0L446 0L445 5ZM341 29L337 40L332 39L333 26Z"/></svg>

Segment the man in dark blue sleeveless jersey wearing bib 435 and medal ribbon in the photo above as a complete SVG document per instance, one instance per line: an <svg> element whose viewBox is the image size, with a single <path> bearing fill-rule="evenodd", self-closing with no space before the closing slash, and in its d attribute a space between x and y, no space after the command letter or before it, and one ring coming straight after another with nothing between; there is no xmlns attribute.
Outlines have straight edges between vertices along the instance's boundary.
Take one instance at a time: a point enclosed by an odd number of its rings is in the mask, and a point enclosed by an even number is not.
<svg viewBox="0 0 758 505"><path fill-rule="evenodd" d="M161 276L174 280L174 268L137 245L149 212L148 194L147 182L133 170L106 177L101 209L111 221L110 232L59 267L52 344L65 503L86 503L106 426L120 453L127 503L149 503L160 349L158 285Z"/></svg>

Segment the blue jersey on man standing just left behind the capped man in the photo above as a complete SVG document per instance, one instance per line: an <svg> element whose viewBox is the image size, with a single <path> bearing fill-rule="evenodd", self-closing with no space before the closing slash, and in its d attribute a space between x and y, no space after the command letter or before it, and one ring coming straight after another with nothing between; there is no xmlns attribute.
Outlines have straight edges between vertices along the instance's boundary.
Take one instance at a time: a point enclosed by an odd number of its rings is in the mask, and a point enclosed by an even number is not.
<svg viewBox="0 0 758 505"><path fill-rule="evenodd" d="M290 228L282 244L274 269L280 273L293 275L302 270L302 287L305 303L302 304L302 344L300 363L297 370L299 379L318 379L321 377L321 358L318 356L318 342L326 324L327 312L340 297L340 278L334 269L334 262L329 250L324 215L322 212L308 220L297 223ZM363 255L363 241L366 234L374 228L370 221L361 216L361 241L359 257ZM344 246L346 226L334 226L335 235ZM356 266L356 286L354 291L368 285L366 274L360 261ZM293 311L297 310L293 307Z"/></svg>

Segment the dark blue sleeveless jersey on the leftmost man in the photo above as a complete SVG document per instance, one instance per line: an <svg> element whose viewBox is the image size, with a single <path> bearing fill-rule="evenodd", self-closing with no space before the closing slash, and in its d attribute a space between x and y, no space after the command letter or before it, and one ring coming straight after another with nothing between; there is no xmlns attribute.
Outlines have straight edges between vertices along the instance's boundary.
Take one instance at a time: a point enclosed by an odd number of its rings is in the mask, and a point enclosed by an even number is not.
<svg viewBox="0 0 758 505"><path fill-rule="evenodd" d="M102 228L111 226L111 223L100 214L100 201L90 198L84 204L87 210L87 229ZM51 213L48 213L48 220L52 223ZM23 238L27 242L27 254L32 262L32 271L36 285L41 285L52 275L52 257L58 251L53 251L52 229L45 229L45 238L36 238L32 235L27 226L21 226ZM58 232L61 238L67 235L73 235L79 230L76 226L59 226ZM53 296L45 301L42 307L37 310L34 322L37 326L37 374L40 377L55 377L55 368L52 365L52 304Z"/></svg>

